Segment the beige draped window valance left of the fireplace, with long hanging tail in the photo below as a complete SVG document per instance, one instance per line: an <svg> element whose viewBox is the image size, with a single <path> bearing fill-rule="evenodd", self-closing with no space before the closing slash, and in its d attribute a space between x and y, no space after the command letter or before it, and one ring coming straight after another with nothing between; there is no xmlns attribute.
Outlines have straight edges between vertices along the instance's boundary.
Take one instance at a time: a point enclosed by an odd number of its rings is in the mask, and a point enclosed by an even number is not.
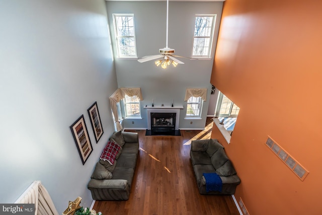
<svg viewBox="0 0 322 215"><path fill-rule="evenodd" d="M141 88L118 88L109 98L110 100L110 105L111 109L115 118L116 122L116 129L118 131L122 130L122 125L119 122L118 118L118 112L117 112L117 106L116 104L120 102L122 99L125 98L125 95L128 96L137 96L137 98L141 101L143 100L142 98L142 93L141 93Z"/></svg>

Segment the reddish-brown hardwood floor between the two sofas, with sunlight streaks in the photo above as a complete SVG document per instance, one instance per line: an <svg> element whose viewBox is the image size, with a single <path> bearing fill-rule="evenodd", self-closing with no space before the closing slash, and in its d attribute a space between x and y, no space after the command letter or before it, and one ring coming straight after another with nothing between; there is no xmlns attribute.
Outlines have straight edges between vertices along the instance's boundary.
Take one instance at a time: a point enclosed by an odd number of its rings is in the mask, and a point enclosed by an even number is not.
<svg viewBox="0 0 322 215"><path fill-rule="evenodd" d="M107 214L239 214L230 195L201 195L190 162L193 139L210 138L205 130L181 130L181 136L145 136L138 132L140 152L127 201L96 201L93 209Z"/></svg>

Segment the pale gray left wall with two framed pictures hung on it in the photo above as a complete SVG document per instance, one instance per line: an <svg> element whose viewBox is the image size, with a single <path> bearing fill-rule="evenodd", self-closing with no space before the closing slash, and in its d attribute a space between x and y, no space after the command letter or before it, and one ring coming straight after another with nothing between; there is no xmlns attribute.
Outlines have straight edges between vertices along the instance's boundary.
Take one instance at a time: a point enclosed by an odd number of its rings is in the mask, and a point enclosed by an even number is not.
<svg viewBox="0 0 322 215"><path fill-rule="evenodd" d="M61 214L87 184L114 131L117 89L104 0L0 2L0 202L40 180ZM87 109L97 102L98 144ZM93 152L82 164L69 126L82 114Z"/></svg>

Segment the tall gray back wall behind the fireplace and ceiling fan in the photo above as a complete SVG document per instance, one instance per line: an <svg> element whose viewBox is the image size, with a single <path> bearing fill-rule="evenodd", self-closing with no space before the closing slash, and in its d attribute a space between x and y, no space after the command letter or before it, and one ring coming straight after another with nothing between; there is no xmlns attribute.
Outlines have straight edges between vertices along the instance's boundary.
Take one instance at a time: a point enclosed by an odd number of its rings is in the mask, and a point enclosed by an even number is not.
<svg viewBox="0 0 322 215"><path fill-rule="evenodd" d="M217 14L212 55L208 60L190 60L180 58L185 64L176 68L169 66L162 69L154 65L154 61L139 63L136 59L115 59L117 81L119 87L140 87L142 118L124 120L126 128L146 128L147 117L145 105L183 105L180 128L203 129L205 126L209 96L211 90L210 76L212 71L214 50L222 11L222 2L170 2L169 3L169 44L180 56L191 56L194 22L196 14ZM107 12L110 26L113 27L113 13L134 14L137 55L158 54L159 48L166 47L166 5L161 2L115 2L108 1ZM114 30L111 29L114 35ZM114 37L112 42L115 44ZM116 50L114 50L116 53ZM184 119L187 103L184 102L187 88L207 88L208 100L202 108L202 120ZM134 124L131 122L134 121ZM190 124L193 121L193 124Z"/></svg>

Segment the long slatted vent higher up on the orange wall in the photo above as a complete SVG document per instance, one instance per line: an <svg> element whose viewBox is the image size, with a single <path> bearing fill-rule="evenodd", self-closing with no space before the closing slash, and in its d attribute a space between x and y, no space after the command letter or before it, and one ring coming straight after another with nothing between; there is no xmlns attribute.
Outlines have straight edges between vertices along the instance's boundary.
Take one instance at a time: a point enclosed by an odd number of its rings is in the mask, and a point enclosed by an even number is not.
<svg viewBox="0 0 322 215"><path fill-rule="evenodd" d="M303 181L308 174L308 171L300 165L289 153L279 146L270 136L266 141L266 146L290 169L292 172Z"/></svg>

